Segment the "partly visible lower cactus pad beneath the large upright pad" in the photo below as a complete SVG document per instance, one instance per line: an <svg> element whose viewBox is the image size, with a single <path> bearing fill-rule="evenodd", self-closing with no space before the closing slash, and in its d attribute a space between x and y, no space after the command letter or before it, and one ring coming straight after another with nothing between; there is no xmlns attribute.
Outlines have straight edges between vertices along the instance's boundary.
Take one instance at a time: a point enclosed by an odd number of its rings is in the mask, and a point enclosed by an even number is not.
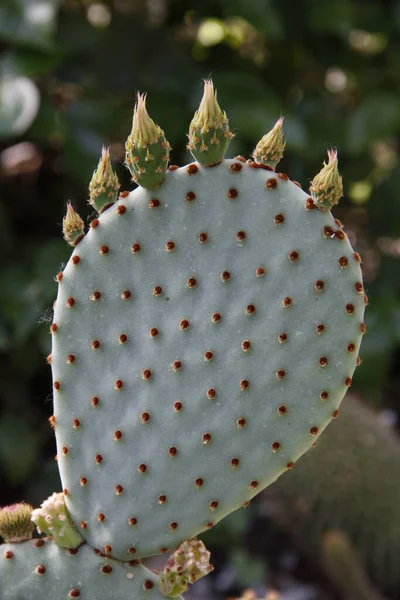
<svg viewBox="0 0 400 600"><path fill-rule="evenodd" d="M2 600L161 600L157 576L145 567L97 555L84 544L60 548L49 539L0 547Z"/></svg>

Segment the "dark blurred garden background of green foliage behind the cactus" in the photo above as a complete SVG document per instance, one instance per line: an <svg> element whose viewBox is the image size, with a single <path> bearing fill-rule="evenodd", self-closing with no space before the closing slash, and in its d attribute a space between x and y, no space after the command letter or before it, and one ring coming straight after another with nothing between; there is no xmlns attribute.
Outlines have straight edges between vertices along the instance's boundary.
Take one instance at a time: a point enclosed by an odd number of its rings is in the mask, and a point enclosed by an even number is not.
<svg viewBox="0 0 400 600"><path fill-rule="evenodd" d="M70 254L66 202L91 213L103 143L132 188L122 163L138 90L172 162L190 160L185 132L210 75L237 133L229 156L248 157L281 114L279 169L304 187L338 148L334 212L362 255L370 305L339 419L204 535L217 568L190 597L252 587L270 599L399 598L399 0L2 0L0 505L60 489L45 357L54 276Z"/></svg>

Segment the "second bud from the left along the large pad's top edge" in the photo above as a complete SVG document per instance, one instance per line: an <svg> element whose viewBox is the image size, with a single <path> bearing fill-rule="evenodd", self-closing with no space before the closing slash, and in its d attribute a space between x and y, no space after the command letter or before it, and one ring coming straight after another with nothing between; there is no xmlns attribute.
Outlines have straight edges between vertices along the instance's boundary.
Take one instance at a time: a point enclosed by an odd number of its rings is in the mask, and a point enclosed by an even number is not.
<svg viewBox="0 0 400 600"><path fill-rule="evenodd" d="M103 212L105 208L114 204L118 190L119 181L111 166L110 149L103 148L99 165L89 184L89 202L96 210Z"/></svg>

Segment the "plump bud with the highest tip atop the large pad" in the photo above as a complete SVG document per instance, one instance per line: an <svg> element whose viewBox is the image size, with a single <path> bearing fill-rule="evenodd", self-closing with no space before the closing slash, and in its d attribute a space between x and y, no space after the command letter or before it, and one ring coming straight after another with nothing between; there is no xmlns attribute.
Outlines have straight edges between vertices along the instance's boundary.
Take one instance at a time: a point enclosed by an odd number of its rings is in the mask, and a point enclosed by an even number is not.
<svg viewBox="0 0 400 600"><path fill-rule="evenodd" d="M226 113L217 102L214 84L207 79L200 106L190 123L188 150L201 165L215 165L224 158L232 137Z"/></svg>

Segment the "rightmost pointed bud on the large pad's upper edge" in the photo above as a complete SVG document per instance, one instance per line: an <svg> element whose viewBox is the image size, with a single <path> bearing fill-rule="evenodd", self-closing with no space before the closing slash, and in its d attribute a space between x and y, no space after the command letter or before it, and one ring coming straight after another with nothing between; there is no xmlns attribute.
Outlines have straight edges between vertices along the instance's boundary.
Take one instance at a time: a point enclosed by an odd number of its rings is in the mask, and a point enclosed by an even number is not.
<svg viewBox="0 0 400 600"><path fill-rule="evenodd" d="M328 159L328 163L324 162L324 166L314 177L310 186L310 193L315 205L323 211L330 210L343 196L336 150L328 150Z"/></svg>

